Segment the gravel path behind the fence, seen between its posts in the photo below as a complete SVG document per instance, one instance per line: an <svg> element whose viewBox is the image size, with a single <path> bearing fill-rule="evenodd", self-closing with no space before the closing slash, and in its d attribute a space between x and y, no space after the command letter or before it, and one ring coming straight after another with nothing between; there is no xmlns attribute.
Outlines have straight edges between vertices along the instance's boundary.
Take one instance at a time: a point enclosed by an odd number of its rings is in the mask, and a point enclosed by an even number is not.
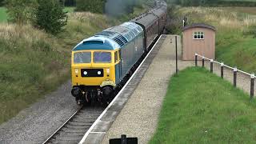
<svg viewBox="0 0 256 144"><path fill-rule="evenodd" d="M198 66L202 66L202 61L198 62ZM210 70L210 62L205 62L206 69ZM221 66L214 63L214 74L217 74L219 77L221 76ZM223 72L224 79L229 81L233 85L234 72L229 68L224 68ZM238 72L237 75L237 86L239 89L244 90L247 94L250 94L250 76L246 74L242 74ZM254 90L254 94L256 94L256 90Z"/></svg>

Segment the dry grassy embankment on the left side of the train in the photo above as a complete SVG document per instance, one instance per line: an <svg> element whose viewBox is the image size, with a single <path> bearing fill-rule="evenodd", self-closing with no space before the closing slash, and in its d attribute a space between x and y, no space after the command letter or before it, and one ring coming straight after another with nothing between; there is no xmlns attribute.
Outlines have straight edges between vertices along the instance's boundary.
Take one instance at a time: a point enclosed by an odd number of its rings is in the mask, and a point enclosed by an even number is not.
<svg viewBox="0 0 256 144"><path fill-rule="evenodd" d="M0 124L70 78L70 51L78 42L121 22L65 10L68 23L57 37L30 25L0 23ZM127 18L143 11L136 9Z"/></svg>

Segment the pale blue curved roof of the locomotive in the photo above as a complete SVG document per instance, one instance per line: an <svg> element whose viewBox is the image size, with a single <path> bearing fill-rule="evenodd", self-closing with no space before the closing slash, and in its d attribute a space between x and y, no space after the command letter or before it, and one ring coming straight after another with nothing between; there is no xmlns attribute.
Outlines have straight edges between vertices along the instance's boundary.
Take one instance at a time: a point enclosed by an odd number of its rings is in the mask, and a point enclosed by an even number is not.
<svg viewBox="0 0 256 144"><path fill-rule="evenodd" d="M110 27L93 37L84 39L73 51L76 50L116 50L132 41L141 34L142 27L134 22L125 22L120 26Z"/></svg>

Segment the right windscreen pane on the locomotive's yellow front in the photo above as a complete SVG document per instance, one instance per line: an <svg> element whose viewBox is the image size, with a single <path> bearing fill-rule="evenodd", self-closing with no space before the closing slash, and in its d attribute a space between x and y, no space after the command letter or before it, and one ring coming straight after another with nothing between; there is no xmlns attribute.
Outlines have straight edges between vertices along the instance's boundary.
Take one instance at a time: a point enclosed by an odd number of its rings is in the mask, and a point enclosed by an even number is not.
<svg viewBox="0 0 256 144"><path fill-rule="evenodd" d="M94 63L111 63L110 52L94 52Z"/></svg>

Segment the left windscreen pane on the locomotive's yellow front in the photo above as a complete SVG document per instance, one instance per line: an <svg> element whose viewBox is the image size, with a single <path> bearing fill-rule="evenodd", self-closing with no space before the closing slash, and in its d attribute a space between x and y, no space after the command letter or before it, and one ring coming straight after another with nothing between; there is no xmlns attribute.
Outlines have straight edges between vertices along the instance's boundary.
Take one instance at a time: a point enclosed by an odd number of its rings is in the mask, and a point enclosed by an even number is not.
<svg viewBox="0 0 256 144"><path fill-rule="evenodd" d="M74 63L90 63L90 62L91 62L90 52L74 53Z"/></svg>

